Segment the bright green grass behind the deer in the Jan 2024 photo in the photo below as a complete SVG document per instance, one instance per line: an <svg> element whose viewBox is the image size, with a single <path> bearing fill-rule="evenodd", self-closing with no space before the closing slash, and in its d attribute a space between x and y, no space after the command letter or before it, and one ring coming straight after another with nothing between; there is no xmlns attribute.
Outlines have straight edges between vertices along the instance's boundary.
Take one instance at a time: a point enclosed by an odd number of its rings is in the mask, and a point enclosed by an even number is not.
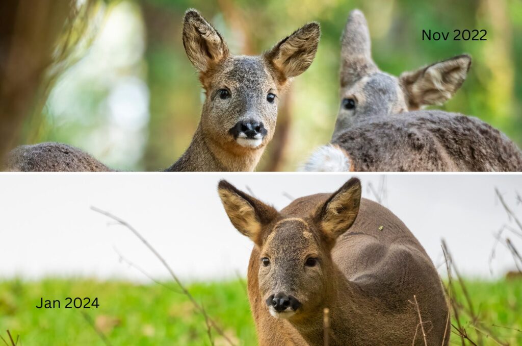
<svg viewBox="0 0 522 346"><path fill-rule="evenodd" d="M169 285L174 285L168 283ZM522 344L522 333L492 324L522 329L522 280L468 281L474 308L485 326L512 345ZM189 291L205 306L227 335L243 345L255 345L254 323L243 281L195 283ZM65 309L65 297L98 297L98 309ZM60 299L61 309L37 309L40 297ZM458 301L462 301L459 295ZM103 329L112 345L209 345L205 318L186 296L157 284L121 281L45 279L0 281L0 336L7 329L20 335L23 345L103 345L81 312ZM476 341L469 319L462 324ZM213 332L216 345L226 344ZM452 341L458 343L453 335ZM2 341L0 341L2 344ZM495 344L484 339L484 344Z"/></svg>

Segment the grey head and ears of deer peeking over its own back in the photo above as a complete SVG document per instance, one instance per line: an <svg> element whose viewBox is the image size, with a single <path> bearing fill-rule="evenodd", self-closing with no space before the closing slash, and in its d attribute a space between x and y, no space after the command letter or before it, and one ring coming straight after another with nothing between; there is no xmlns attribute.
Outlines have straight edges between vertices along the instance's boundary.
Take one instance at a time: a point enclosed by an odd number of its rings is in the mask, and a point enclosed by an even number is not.
<svg viewBox="0 0 522 346"><path fill-rule="evenodd" d="M463 54L399 77L382 72L372 60L364 15L351 11L341 37L341 105L334 137L353 122L441 105L464 83L470 65L471 57Z"/></svg>

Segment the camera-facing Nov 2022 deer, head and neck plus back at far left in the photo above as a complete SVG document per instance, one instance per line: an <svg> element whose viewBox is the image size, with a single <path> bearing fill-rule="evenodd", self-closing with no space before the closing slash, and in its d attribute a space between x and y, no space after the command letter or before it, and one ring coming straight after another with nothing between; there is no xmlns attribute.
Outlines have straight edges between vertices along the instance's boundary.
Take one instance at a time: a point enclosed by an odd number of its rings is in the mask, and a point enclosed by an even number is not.
<svg viewBox="0 0 522 346"><path fill-rule="evenodd" d="M312 64L320 34L319 25L311 22L260 56L237 56L198 11L187 10L183 45L206 98L191 144L166 170L254 170L274 135L279 95ZM14 149L7 169L110 170L79 149L58 143Z"/></svg>

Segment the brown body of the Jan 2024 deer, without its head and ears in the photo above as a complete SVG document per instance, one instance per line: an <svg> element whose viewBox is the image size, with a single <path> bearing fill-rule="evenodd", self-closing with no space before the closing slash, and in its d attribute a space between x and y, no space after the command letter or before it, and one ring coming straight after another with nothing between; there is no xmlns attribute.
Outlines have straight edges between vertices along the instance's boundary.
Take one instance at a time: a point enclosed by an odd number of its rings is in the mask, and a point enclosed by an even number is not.
<svg viewBox="0 0 522 346"><path fill-rule="evenodd" d="M315 206L329 195L306 199L317 201L310 204ZM291 208L292 204L285 209ZM248 298L259 344L271 345L277 340L277 344L323 345L322 332L317 339L305 341L287 321L269 315L259 293L259 256L254 247L248 266ZM417 238L386 207L361 199L354 224L337 238L331 257L346 282L340 286L350 287L352 293L343 302L350 307L329 307L337 308L345 323L342 330L331 326L330 345L423 345L418 312L410 303L414 295L424 328L429 330L428 344L447 345L448 307L440 277Z"/></svg>

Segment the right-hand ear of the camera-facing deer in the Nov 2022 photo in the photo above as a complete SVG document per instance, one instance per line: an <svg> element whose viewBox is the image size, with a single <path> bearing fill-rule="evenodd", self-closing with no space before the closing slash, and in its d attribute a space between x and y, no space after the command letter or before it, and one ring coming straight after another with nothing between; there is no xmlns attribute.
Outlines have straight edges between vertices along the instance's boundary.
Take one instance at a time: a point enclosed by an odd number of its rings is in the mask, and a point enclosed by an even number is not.
<svg viewBox="0 0 522 346"><path fill-rule="evenodd" d="M306 24L277 43L263 56L281 74L281 82L299 76L310 67L317 52L321 27L316 22Z"/></svg>

